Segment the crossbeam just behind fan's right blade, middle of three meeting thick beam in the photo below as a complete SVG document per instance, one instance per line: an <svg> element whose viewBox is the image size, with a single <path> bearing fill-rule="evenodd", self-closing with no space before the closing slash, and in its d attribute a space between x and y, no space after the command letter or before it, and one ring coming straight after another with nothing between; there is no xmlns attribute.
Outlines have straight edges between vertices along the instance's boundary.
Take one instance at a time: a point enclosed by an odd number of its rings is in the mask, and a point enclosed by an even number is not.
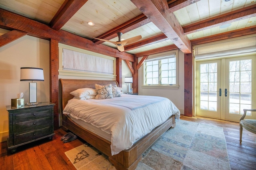
<svg viewBox="0 0 256 170"><path fill-rule="evenodd" d="M126 45L126 46L124 46L124 51L129 51L129 50L132 50L132 49L145 47L147 45L151 45L151 44L159 43L161 41L165 41L166 39L168 39L168 38L164 34L156 35L154 37L150 37L148 39L144 39L142 41L138 41L136 43Z"/></svg>

